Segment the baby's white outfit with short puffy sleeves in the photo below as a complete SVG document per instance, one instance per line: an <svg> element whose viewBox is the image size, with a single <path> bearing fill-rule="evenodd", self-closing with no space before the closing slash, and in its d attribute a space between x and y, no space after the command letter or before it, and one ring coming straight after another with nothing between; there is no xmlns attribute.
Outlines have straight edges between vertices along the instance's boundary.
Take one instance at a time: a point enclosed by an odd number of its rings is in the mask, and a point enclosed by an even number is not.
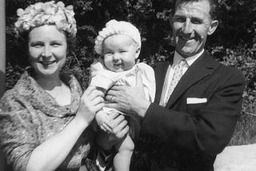
<svg viewBox="0 0 256 171"><path fill-rule="evenodd" d="M144 93L146 95L146 99L150 102L154 101L155 96L155 78L154 78L154 70L148 66L146 63L138 63L133 66L130 70L125 70L122 72L114 72L108 70L106 66L102 64L102 62L96 62L90 66L90 85L97 86L102 89L110 89L112 85L129 85L135 86L138 70L142 73L142 85L144 89ZM103 108L103 111L106 113L110 113L115 109ZM117 111L117 110L116 110ZM118 111L118 113L122 113ZM122 113L126 115L125 113ZM126 115L127 116L127 115ZM131 137L137 137L139 130L139 121L134 117L136 123L130 125L130 129L134 129L131 131ZM135 127L135 128L133 128ZM136 130L136 131L135 131ZM135 138L137 139L137 138Z"/></svg>

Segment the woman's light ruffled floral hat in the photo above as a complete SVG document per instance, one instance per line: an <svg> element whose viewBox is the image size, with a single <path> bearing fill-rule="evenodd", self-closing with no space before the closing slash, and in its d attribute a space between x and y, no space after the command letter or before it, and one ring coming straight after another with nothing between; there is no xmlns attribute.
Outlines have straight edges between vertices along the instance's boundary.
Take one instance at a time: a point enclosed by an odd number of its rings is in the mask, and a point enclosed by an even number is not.
<svg viewBox="0 0 256 171"><path fill-rule="evenodd" d="M63 2L37 2L25 10L17 10L18 21L15 22L17 34L28 32L34 27L42 25L55 25L58 30L64 30L75 36L77 33L73 6L66 6Z"/></svg>

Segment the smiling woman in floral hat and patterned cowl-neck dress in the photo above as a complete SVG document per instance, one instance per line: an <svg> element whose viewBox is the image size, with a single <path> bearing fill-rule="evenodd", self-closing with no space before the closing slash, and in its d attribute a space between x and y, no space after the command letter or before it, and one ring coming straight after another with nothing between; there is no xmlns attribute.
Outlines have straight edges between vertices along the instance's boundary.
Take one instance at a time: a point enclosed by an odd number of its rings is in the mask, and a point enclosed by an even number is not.
<svg viewBox="0 0 256 171"><path fill-rule="evenodd" d="M18 17L15 28L31 67L2 97L6 112L0 114L0 140L6 160L18 171L88 170L94 140L90 123L104 103L95 87L82 94L73 75L60 73L77 32L73 7L38 2L18 9Z"/></svg>

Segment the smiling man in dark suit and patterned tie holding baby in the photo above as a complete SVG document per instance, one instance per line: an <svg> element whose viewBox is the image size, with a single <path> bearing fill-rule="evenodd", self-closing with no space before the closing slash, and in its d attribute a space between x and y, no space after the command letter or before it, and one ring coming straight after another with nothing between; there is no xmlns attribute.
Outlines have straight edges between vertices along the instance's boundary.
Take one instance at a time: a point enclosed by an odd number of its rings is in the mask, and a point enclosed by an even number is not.
<svg viewBox="0 0 256 171"><path fill-rule="evenodd" d="M146 149L150 165L143 170L214 170L216 155L230 141L244 78L204 50L206 37L218 26L216 3L176 2L170 17L175 54L170 62L154 66L154 103L145 100L140 78L134 88L114 86L107 93L109 107L142 117L141 134L154 142Z"/></svg>

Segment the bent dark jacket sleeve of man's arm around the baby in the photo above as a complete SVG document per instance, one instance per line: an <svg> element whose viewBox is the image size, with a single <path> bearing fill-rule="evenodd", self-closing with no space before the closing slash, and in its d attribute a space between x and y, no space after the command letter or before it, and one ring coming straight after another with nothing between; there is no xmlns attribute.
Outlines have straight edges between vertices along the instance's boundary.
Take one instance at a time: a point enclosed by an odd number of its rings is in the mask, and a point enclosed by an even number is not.
<svg viewBox="0 0 256 171"><path fill-rule="evenodd" d="M233 72L196 114L151 103L142 133L156 136L186 152L217 154L230 141L242 106L244 77Z"/></svg>

